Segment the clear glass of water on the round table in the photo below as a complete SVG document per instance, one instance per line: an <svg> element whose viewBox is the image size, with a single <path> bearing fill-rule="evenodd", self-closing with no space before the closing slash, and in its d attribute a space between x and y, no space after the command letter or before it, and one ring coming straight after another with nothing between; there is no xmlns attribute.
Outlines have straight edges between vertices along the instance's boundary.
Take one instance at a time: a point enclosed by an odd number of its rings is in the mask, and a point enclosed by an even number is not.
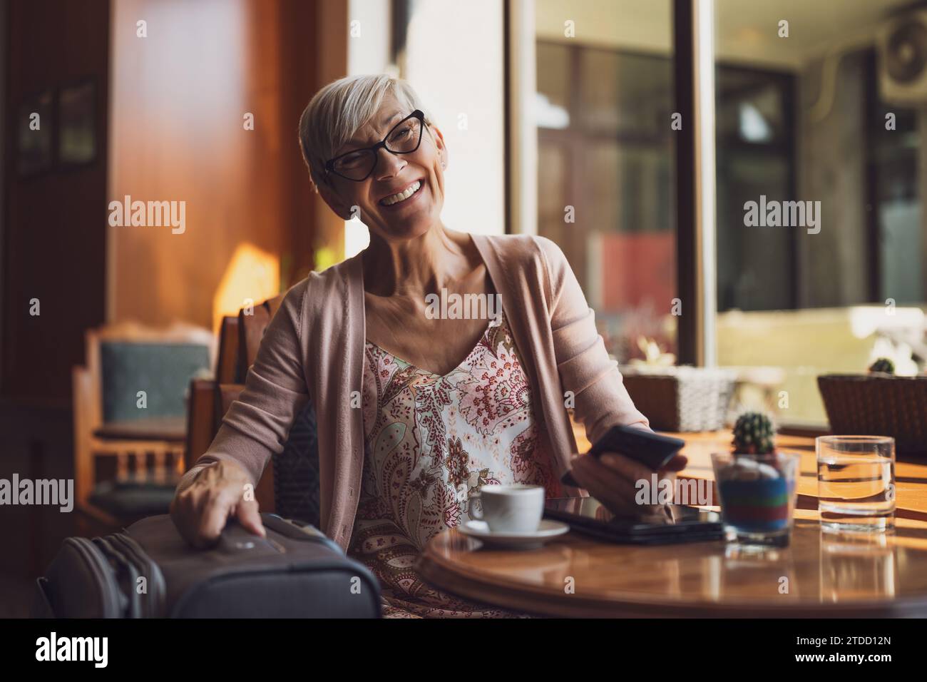
<svg viewBox="0 0 927 682"><path fill-rule="evenodd" d="M895 528L895 439L819 436L818 509L825 533Z"/></svg>

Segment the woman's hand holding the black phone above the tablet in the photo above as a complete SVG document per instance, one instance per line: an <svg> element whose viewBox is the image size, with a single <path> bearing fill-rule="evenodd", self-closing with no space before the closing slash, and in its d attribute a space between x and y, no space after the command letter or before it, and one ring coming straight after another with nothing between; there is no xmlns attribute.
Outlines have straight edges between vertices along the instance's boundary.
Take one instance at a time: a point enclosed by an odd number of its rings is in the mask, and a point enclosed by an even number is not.
<svg viewBox="0 0 927 682"><path fill-rule="evenodd" d="M660 482L663 480L668 480L675 489L676 472L685 469L687 462L685 456L677 455L667 462L663 470L657 471L656 492L659 492ZM654 470L640 462L608 452L599 458L590 455L574 457L572 465L573 478L579 483L579 487L589 491L590 495L613 513L620 516L647 515L662 510L661 505L639 505L635 501L639 489L638 481L646 481L648 486L653 483Z"/></svg>

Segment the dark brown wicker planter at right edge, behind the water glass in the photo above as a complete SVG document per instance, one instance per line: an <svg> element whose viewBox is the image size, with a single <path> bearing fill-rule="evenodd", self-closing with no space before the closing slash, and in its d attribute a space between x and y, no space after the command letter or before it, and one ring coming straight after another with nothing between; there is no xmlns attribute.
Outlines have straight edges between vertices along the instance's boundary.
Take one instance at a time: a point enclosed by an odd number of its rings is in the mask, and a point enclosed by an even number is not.
<svg viewBox="0 0 927 682"><path fill-rule="evenodd" d="M834 434L892 436L899 454L927 456L927 377L825 374L818 388Z"/></svg>

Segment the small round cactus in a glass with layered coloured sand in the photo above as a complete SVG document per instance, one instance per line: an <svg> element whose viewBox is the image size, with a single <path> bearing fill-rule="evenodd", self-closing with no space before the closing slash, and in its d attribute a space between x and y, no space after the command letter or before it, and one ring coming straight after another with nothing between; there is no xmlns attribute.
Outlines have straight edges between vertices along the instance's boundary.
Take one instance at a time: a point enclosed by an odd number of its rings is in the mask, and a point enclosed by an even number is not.
<svg viewBox="0 0 927 682"><path fill-rule="evenodd" d="M746 412L734 425L730 453L712 455L721 517L748 545L788 545L799 457L776 449L772 420Z"/></svg>

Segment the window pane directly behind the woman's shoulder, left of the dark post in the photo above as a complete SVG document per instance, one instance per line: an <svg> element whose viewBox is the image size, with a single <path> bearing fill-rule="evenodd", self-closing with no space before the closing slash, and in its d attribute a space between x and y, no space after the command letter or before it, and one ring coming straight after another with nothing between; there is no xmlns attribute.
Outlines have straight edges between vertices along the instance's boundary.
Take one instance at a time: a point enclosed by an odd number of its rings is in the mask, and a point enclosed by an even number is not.
<svg viewBox="0 0 927 682"><path fill-rule="evenodd" d="M539 233L563 249L608 351L676 352L669 2L536 4ZM566 37L565 21L575 22Z"/></svg>

